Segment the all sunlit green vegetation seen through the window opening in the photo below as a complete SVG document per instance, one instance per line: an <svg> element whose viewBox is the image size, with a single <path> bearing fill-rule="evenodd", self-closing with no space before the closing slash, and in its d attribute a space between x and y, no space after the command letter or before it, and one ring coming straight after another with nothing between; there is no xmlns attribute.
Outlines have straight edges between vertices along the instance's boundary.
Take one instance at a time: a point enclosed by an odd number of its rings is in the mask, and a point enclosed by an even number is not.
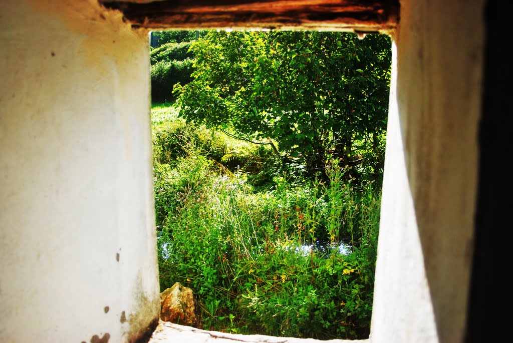
<svg viewBox="0 0 513 343"><path fill-rule="evenodd" d="M211 32L152 50L152 64L195 61L178 104L152 108L161 290L192 288L205 329L366 338L389 40L282 35Z"/></svg>

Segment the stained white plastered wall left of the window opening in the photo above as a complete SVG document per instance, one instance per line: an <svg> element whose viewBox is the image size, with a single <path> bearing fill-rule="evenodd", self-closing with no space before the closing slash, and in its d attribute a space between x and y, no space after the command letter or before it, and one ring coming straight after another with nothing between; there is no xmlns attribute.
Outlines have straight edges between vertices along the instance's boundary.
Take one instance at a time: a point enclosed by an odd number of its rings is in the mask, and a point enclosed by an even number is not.
<svg viewBox="0 0 513 343"><path fill-rule="evenodd" d="M0 341L134 340L160 306L147 35L3 0L0 64Z"/></svg>

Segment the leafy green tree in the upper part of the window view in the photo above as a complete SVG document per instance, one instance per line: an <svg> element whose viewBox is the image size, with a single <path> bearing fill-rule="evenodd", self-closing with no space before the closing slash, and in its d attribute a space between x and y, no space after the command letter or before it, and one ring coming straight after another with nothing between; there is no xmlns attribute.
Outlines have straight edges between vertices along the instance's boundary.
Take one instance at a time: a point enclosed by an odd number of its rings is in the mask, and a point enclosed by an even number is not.
<svg viewBox="0 0 513 343"><path fill-rule="evenodd" d="M175 86L180 115L244 139L275 140L310 175L324 174L328 155L345 165L366 155L379 172L390 45L385 35L210 32L191 47L193 81Z"/></svg>

